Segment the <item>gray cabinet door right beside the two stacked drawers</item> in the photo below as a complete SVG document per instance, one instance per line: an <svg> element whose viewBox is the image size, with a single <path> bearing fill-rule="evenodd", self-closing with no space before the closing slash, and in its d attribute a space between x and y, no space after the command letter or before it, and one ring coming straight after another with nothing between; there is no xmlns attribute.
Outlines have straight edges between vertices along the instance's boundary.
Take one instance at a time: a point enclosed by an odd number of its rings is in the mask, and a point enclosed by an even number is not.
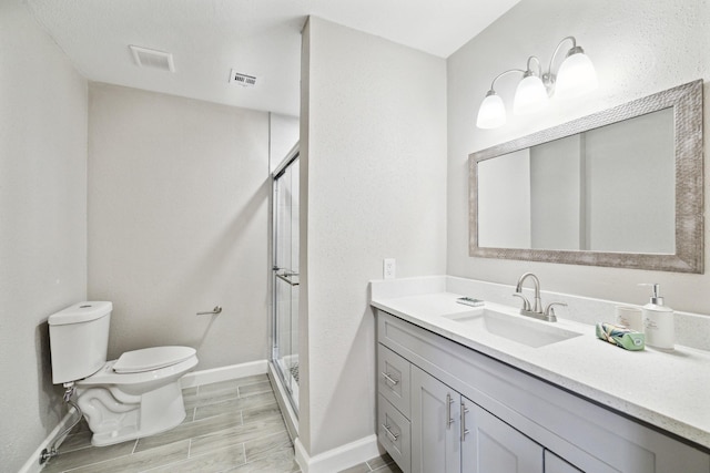
<svg viewBox="0 0 710 473"><path fill-rule="evenodd" d="M459 473L460 395L412 366L412 472Z"/></svg>

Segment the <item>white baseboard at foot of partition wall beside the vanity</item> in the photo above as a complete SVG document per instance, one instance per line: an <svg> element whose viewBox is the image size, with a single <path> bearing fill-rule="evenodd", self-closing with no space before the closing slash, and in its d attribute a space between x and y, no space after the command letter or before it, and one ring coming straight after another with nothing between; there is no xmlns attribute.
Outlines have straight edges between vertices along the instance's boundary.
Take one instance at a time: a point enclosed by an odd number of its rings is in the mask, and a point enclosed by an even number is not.
<svg viewBox="0 0 710 473"><path fill-rule="evenodd" d="M367 460L384 454L384 450L377 443L377 435L367 435L355 442L347 443L327 452L310 456L301 439L294 442L296 462L303 473L333 473L339 472Z"/></svg>

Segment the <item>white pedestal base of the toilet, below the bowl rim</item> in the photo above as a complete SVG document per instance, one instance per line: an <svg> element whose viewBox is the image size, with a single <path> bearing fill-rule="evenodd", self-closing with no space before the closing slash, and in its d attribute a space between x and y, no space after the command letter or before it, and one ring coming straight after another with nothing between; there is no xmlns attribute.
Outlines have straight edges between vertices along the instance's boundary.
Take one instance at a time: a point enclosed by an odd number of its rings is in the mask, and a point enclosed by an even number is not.
<svg viewBox="0 0 710 473"><path fill-rule="evenodd" d="M91 444L94 446L154 435L185 419L180 380L135 397L140 401L133 404L116 401L122 397L119 388L90 388L79 397L79 405L93 432Z"/></svg>

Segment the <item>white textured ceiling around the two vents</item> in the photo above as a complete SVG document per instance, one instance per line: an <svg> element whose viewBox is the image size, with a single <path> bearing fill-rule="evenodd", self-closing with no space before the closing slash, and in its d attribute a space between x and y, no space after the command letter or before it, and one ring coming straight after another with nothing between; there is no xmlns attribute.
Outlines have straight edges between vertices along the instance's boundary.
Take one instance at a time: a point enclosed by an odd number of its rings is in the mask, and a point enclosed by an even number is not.
<svg viewBox="0 0 710 473"><path fill-rule="evenodd" d="M447 58L519 0L27 0L89 80L298 114L301 29L314 14ZM173 53L141 69L129 44ZM257 78L230 84L230 70Z"/></svg>

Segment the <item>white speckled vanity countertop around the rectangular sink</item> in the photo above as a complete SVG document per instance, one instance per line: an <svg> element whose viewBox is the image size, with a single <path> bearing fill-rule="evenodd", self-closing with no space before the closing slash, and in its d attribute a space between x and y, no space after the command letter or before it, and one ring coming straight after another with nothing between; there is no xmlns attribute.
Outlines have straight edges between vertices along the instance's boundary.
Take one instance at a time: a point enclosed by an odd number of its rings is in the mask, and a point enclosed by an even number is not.
<svg viewBox="0 0 710 473"><path fill-rule="evenodd" d="M485 353L530 374L710 449L710 352L676 346L627 351L599 340L595 327L559 318L537 323L582 333L531 348L443 315L474 308L452 292L374 296L372 305L403 320ZM517 309L486 302L491 309Z"/></svg>

